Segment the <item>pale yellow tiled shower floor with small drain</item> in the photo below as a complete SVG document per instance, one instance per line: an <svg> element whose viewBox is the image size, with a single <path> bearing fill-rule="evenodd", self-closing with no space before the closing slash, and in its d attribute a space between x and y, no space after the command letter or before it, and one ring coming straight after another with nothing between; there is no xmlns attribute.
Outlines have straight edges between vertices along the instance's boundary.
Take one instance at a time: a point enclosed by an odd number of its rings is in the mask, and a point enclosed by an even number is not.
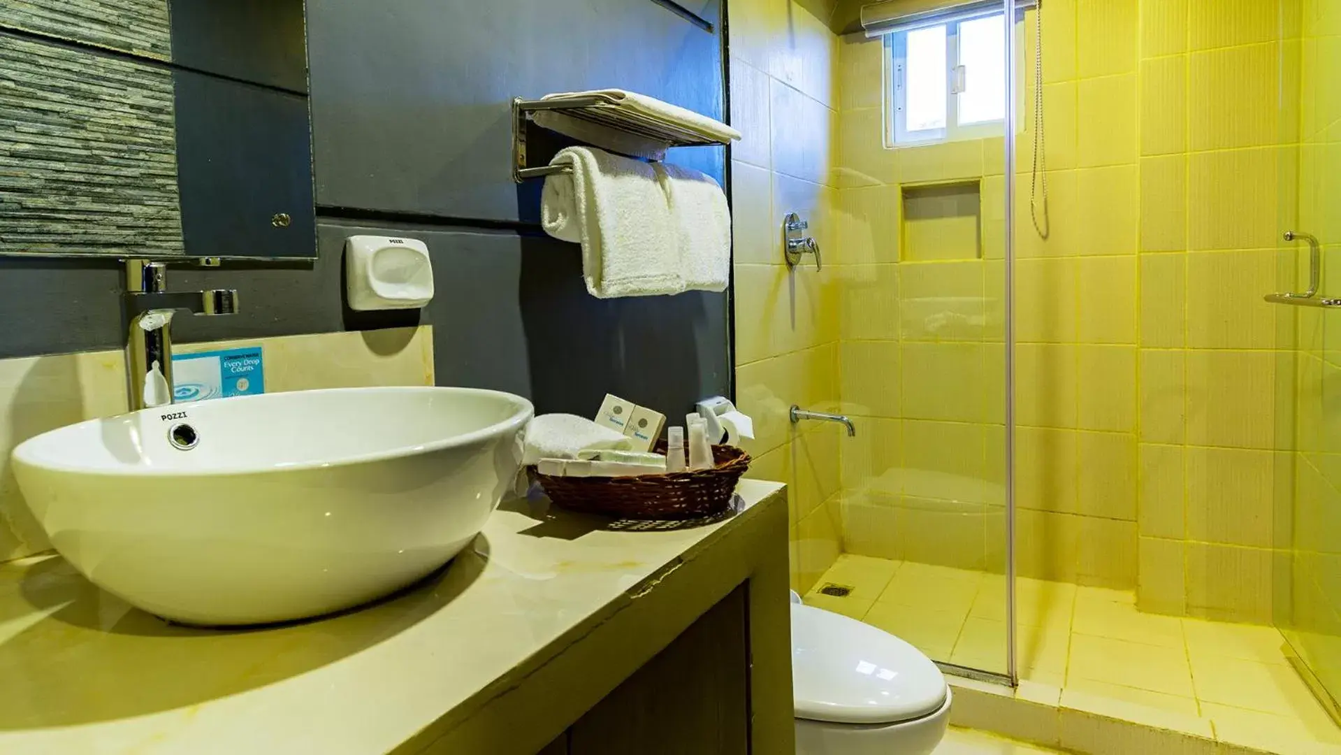
<svg viewBox="0 0 1341 755"><path fill-rule="evenodd" d="M848 597L819 593L826 583ZM805 602L860 618L937 661L1004 672L999 574L841 555ZM1021 578L1019 675L1061 689L1059 704L1151 712L1216 739L1297 742L1341 751L1332 723L1267 626L1140 613L1130 591ZM1161 719L1163 716L1163 719ZM1326 744L1324 744L1326 743ZM1311 747L1310 747L1311 750Z"/></svg>

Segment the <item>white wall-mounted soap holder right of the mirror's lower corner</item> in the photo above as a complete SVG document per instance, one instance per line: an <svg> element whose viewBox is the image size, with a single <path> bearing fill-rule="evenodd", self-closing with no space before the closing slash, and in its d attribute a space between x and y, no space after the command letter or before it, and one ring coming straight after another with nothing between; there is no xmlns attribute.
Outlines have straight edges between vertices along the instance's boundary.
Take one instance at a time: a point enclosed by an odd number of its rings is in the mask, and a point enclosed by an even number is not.
<svg viewBox="0 0 1341 755"><path fill-rule="evenodd" d="M410 310L433 299L433 264L417 239L350 236L345 288L351 310Z"/></svg>

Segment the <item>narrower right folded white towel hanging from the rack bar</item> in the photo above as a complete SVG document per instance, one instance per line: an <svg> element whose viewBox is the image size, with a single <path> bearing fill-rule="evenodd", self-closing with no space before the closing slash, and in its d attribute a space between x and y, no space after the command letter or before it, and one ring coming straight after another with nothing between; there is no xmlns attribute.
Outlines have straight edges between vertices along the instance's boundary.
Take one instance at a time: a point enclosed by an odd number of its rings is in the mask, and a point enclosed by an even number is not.
<svg viewBox="0 0 1341 755"><path fill-rule="evenodd" d="M731 211L721 186L705 173L665 165L670 221L687 291L725 291L731 276Z"/></svg>

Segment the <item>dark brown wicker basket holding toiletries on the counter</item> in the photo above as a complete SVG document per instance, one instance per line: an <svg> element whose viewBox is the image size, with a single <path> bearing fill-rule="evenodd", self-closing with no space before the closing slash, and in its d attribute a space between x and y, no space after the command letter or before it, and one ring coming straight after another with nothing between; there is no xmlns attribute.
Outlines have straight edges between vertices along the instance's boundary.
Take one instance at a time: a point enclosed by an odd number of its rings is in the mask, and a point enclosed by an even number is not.
<svg viewBox="0 0 1341 755"><path fill-rule="evenodd" d="M665 452L665 444L658 447ZM750 468L750 455L734 445L713 445L712 469L640 475L637 477L552 477L536 473L550 500L570 511L620 519L699 519L731 506L736 483Z"/></svg>

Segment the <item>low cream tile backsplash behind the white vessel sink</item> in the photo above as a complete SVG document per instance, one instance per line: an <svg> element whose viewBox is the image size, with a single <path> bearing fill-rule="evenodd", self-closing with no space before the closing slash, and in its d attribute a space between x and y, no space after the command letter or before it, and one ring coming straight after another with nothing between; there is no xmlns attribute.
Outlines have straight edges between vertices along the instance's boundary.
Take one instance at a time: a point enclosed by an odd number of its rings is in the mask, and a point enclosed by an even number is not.
<svg viewBox="0 0 1341 755"><path fill-rule="evenodd" d="M267 393L433 385L432 326L178 343L177 353L256 343L264 351ZM121 350L0 359L0 562L51 548L9 471L9 451L47 430L123 412Z"/></svg>

